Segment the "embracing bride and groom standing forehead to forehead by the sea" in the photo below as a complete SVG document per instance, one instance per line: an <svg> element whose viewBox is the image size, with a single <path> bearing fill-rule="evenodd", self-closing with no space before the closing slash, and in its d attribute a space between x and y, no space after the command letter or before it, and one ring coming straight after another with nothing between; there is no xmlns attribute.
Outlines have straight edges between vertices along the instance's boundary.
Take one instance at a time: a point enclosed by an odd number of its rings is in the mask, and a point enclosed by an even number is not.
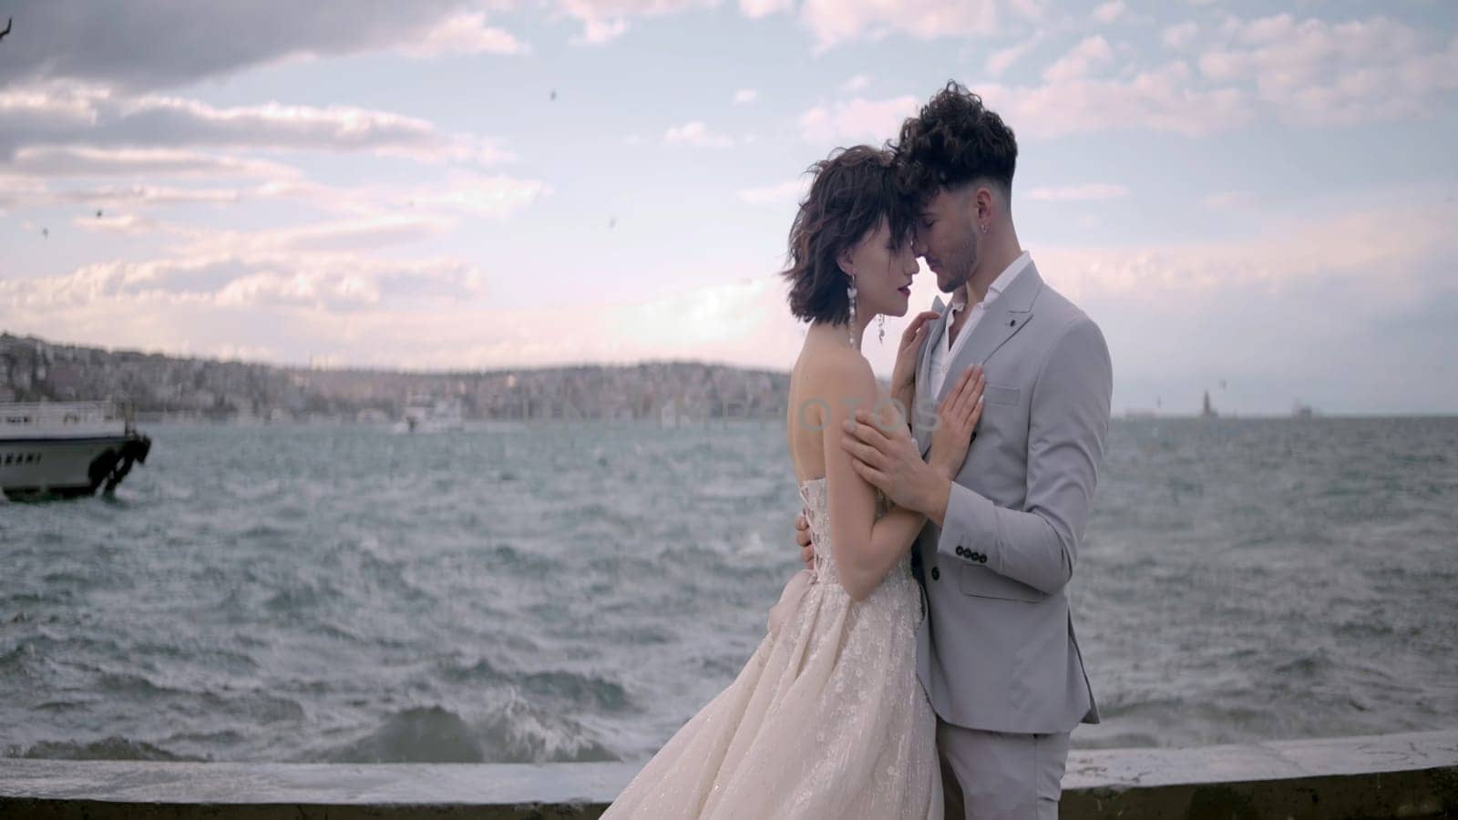
<svg viewBox="0 0 1458 820"><path fill-rule="evenodd" d="M1056 819L1069 732L1098 722L1073 635L1108 430L1096 324L1013 229L1018 146L948 83L891 149L814 166L790 229L809 322L787 436L806 569L733 683L605 819ZM949 302L860 355L926 260Z"/></svg>

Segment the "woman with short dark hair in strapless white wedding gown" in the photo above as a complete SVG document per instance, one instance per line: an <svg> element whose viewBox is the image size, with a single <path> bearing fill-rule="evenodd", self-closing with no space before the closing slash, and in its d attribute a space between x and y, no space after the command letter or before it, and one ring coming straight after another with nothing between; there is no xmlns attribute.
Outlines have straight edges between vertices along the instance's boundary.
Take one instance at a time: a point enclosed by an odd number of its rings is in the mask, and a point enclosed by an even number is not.
<svg viewBox="0 0 1458 820"><path fill-rule="evenodd" d="M744 670L627 785L607 820L942 817L936 716L916 677L921 591L910 546L919 512L889 505L851 467L841 423L875 407L905 425L935 312L901 337L891 392L860 340L907 312L917 260L889 152L818 162L790 229L790 311L811 322L790 374L789 446L815 543L770 610ZM981 416L972 368L937 411L929 461L952 476Z"/></svg>

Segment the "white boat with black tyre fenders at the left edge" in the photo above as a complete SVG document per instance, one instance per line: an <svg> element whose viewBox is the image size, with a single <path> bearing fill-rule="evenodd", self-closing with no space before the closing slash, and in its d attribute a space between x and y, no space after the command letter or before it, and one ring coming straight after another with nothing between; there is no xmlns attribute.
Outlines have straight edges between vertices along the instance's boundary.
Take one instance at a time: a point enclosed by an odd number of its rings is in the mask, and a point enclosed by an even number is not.
<svg viewBox="0 0 1458 820"><path fill-rule="evenodd" d="M112 401L0 403L0 492L12 499L111 493L150 451Z"/></svg>

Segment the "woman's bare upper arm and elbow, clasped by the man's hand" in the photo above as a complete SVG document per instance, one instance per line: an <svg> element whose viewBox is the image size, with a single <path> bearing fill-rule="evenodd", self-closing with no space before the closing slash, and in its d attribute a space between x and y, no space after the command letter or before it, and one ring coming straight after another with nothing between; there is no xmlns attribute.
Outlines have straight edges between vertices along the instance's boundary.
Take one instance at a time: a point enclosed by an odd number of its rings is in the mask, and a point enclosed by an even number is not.
<svg viewBox="0 0 1458 820"><path fill-rule="evenodd" d="M831 403L830 417L821 429L825 445L827 503L830 506L831 549L840 584L856 601L865 600L911 547L926 515L892 508L876 519L876 490L851 467L851 457L841 446L841 423L856 407L875 407L876 379L870 365L847 356L833 365L830 384L841 385Z"/></svg>

